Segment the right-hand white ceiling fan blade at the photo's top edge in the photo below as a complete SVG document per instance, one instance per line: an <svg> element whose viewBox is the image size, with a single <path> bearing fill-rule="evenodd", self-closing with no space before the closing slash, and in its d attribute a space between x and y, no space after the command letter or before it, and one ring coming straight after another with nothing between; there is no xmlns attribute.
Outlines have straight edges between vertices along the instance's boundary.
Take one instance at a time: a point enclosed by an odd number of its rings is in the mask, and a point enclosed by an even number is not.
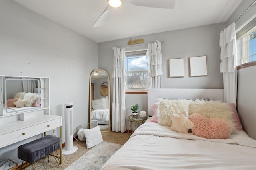
<svg viewBox="0 0 256 170"><path fill-rule="evenodd" d="M146 6L152 8L173 9L175 0L127 0L130 4L136 6Z"/></svg>

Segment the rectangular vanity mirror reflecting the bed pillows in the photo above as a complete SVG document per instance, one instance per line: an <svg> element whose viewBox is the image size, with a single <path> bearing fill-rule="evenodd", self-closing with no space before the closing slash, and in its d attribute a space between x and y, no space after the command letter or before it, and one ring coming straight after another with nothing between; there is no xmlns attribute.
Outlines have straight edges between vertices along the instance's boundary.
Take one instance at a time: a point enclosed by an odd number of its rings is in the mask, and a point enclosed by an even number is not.
<svg viewBox="0 0 256 170"><path fill-rule="evenodd" d="M1 116L40 109L40 78L1 77Z"/></svg>

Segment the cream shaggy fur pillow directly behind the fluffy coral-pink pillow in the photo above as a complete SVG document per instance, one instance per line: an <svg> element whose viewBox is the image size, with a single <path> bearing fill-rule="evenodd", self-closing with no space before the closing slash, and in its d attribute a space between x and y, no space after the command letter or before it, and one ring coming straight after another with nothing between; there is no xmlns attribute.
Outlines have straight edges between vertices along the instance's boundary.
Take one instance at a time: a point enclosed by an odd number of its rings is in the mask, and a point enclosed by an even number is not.
<svg viewBox="0 0 256 170"><path fill-rule="evenodd" d="M232 118L232 110L227 103L221 101L204 101L204 100L195 100L189 106L188 114L192 115L198 113L204 115L207 118L219 118L223 119L230 125L232 133L236 131L236 127Z"/></svg>

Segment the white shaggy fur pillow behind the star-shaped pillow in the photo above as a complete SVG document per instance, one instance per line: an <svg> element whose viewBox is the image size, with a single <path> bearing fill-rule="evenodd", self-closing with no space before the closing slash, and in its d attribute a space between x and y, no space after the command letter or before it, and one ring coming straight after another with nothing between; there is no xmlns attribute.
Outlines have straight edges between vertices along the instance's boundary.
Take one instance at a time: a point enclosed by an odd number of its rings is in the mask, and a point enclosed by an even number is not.
<svg viewBox="0 0 256 170"><path fill-rule="evenodd" d="M186 99L159 99L157 107L158 124L162 126L171 126L172 121L170 119L170 115L178 114L183 110L188 110L191 102L193 101Z"/></svg>

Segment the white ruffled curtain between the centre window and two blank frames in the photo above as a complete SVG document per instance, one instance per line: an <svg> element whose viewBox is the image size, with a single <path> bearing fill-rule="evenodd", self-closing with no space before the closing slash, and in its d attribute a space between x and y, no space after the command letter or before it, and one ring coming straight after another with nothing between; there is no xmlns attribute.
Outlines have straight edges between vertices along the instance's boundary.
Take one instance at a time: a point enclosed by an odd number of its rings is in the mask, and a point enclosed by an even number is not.
<svg viewBox="0 0 256 170"><path fill-rule="evenodd" d="M161 75L162 71L162 53L161 42L156 41L148 44L148 76L149 87L148 88L161 88Z"/></svg>

